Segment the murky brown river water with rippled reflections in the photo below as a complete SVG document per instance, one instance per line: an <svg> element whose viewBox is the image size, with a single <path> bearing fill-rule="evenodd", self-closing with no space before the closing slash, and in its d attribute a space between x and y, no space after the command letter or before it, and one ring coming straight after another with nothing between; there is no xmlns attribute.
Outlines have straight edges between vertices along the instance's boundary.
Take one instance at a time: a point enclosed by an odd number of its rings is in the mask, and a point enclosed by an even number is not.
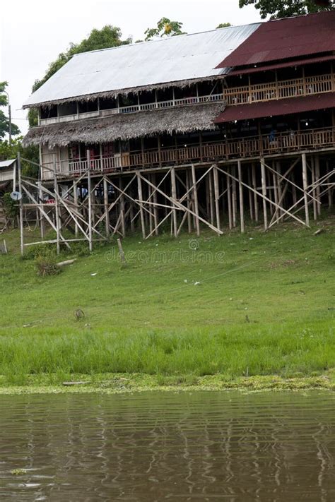
<svg viewBox="0 0 335 502"><path fill-rule="evenodd" d="M332 393L1 395L0 403L1 502L335 500Z"/></svg>

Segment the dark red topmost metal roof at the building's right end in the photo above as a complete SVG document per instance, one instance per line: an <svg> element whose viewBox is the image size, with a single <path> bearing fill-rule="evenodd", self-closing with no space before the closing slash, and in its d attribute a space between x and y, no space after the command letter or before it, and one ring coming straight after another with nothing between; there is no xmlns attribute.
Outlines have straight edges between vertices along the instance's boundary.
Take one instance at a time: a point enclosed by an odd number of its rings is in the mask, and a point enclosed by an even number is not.
<svg viewBox="0 0 335 502"><path fill-rule="evenodd" d="M216 68L246 66L335 50L335 11L262 23Z"/></svg>

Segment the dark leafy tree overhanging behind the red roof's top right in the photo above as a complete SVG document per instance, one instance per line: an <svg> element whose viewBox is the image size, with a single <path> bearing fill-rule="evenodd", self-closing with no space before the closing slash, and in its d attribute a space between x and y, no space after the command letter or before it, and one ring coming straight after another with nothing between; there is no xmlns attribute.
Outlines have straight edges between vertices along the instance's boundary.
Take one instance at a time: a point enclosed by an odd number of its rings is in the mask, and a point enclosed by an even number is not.
<svg viewBox="0 0 335 502"><path fill-rule="evenodd" d="M319 11L331 11L334 2L331 0L239 0L240 8L254 4L261 18L271 19L302 16Z"/></svg>

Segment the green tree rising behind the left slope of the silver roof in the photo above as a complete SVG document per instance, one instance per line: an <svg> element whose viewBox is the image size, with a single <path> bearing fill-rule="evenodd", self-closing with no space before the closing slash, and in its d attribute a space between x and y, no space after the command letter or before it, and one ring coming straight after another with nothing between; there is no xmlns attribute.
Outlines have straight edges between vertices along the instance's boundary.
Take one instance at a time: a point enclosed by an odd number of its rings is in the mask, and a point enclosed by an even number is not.
<svg viewBox="0 0 335 502"><path fill-rule="evenodd" d="M54 73L56 73L74 54L81 52L95 51L98 49L108 49L109 47L118 47L119 45L131 44L132 39L128 37L122 40L122 32L120 28L112 25L105 25L101 30L92 30L87 38L84 38L78 44L70 43L69 49L66 52L61 52L57 59L52 61L45 72L45 76L40 80L35 80L33 85L33 92L41 87L47 80L49 80ZM37 126L37 110L30 109L28 113L29 125Z"/></svg>

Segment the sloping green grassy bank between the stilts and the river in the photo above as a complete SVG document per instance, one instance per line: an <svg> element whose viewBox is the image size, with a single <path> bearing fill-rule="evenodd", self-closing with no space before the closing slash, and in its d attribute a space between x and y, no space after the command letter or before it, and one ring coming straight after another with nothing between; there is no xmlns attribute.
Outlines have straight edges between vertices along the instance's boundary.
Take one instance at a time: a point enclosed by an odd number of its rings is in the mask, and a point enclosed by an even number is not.
<svg viewBox="0 0 335 502"><path fill-rule="evenodd" d="M333 388L334 217L312 229L127 238L127 268L113 242L90 256L77 248L60 258L74 265L49 277L20 258L17 231L3 237L0 393L64 390L78 375L85 390L118 375L126 390Z"/></svg>

